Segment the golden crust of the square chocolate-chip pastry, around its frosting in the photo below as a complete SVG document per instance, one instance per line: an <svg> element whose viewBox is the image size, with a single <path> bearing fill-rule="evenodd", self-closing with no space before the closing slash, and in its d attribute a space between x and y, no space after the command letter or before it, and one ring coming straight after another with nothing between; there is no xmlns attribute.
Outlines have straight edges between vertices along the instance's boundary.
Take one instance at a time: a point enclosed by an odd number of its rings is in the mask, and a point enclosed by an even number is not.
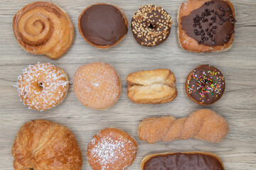
<svg viewBox="0 0 256 170"><path fill-rule="evenodd" d="M178 42L181 45L181 47L184 50L192 51L192 52L220 52L220 51L227 51L230 50L230 48L233 46L233 40L235 34L231 35L230 41L227 44L224 44L222 46L206 46L206 45L199 45L198 42L186 35L186 32L182 30L181 26L181 17L188 16L191 11L196 10L197 8L200 8L206 1L209 0L188 0L181 4L179 10L178 10ZM230 5L230 8L232 8L233 16L235 17L235 8L233 4L231 4L228 0L227 1Z"/></svg>

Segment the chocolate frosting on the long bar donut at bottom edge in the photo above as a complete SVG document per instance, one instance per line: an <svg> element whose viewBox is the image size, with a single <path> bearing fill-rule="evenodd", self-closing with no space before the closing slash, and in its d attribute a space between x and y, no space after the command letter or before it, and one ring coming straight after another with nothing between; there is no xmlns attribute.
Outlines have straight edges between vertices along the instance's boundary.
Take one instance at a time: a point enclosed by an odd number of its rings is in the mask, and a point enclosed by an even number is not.
<svg viewBox="0 0 256 170"><path fill-rule="evenodd" d="M220 161L208 154L166 154L151 157L143 170L223 170Z"/></svg>

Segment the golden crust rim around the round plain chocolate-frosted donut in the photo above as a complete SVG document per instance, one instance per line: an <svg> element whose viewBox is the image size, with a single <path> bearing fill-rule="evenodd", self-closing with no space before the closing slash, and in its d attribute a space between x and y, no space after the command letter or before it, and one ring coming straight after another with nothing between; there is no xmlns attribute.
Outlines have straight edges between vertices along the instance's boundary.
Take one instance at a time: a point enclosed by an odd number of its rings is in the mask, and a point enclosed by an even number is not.
<svg viewBox="0 0 256 170"><path fill-rule="evenodd" d="M80 19L81 19L81 16L82 16L82 14L87 10L87 8L90 8L90 7L94 6L94 5L100 5L100 4L105 4L105 3L96 3L96 4L92 4L91 6L87 6L87 7L82 11L82 13L80 13L80 16L78 17L78 30L79 30L80 35L82 35L82 38L84 38L85 41L86 41L88 44L90 44L90 45L92 45L92 46L94 46L94 47L97 47L97 48L107 49L107 48L113 47L114 45L117 45L119 42L121 42L121 41L124 39L124 37L126 36L126 34L125 34L124 36L122 36L122 38L120 38L120 39L119 39L117 42L115 42L113 45L95 45L95 44L93 44L92 42L90 42L89 40L87 40L87 38L85 38L85 35L83 35L82 30L81 30L81 27L80 27ZM117 9L119 10L119 12L122 13L122 16L123 16L123 18L124 18L124 23L125 23L125 25L126 25L127 28L128 28L127 17L125 16L125 14L124 14L124 12L122 11L122 9L119 8L119 7L116 6L116 5L113 5L113 4L107 4L107 5L114 6L114 8L117 8Z"/></svg>

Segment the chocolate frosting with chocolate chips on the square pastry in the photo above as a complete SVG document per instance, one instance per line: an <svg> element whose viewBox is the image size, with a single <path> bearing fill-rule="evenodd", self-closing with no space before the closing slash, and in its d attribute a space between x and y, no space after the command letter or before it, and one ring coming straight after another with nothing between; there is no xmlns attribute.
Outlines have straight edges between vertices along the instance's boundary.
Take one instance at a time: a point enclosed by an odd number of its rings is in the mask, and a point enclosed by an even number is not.
<svg viewBox="0 0 256 170"><path fill-rule="evenodd" d="M181 17L182 30L207 46L224 45L235 33L233 10L227 1L208 1L188 16Z"/></svg>

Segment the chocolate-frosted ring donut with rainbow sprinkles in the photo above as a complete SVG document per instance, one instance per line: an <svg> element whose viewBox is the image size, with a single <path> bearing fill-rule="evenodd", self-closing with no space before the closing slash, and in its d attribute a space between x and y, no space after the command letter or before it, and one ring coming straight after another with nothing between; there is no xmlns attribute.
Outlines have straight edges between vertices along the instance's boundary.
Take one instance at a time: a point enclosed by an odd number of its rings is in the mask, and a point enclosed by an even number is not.
<svg viewBox="0 0 256 170"><path fill-rule="evenodd" d="M225 79L219 69L208 64L193 69L186 79L186 94L200 105L218 101L225 91Z"/></svg>

